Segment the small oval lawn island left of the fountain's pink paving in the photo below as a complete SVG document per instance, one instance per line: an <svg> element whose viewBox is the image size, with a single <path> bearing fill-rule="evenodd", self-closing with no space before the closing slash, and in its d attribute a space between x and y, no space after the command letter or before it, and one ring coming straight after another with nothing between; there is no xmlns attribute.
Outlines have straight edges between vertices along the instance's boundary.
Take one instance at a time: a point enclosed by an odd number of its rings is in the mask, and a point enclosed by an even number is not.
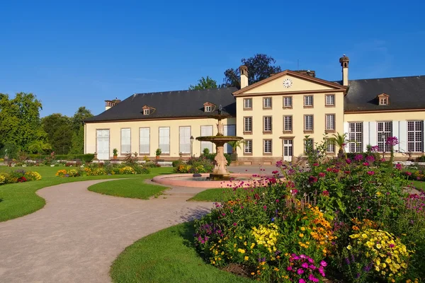
<svg viewBox="0 0 425 283"><path fill-rule="evenodd" d="M135 199L149 200L149 197L159 195L167 187L160 185L149 185L145 183L145 176L128 180L115 180L106 183L91 185L89 190L102 195L113 195L115 197L132 197Z"/></svg>

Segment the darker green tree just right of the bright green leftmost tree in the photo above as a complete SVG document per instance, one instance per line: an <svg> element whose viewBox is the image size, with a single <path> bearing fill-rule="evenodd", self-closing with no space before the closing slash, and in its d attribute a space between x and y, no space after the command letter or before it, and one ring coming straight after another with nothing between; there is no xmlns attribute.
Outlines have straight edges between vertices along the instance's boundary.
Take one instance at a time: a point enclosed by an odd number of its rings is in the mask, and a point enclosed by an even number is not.
<svg viewBox="0 0 425 283"><path fill-rule="evenodd" d="M47 141L56 154L68 154L72 144L72 119L55 113L43 117L42 128L47 133Z"/></svg>

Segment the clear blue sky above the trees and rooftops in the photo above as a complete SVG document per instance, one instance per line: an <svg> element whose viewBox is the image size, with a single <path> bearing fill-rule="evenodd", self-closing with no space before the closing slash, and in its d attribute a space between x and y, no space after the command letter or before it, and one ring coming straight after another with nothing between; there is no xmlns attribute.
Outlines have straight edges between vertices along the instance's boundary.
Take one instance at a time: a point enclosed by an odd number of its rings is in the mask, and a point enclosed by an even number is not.
<svg viewBox="0 0 425 283"><path fill-rule="evenodd" d="M382 4L381 4L382 3ZM423 1L3 1L0 93L32 92L42 116L222 82L242 58L350 79L425 75Z"/></svg>

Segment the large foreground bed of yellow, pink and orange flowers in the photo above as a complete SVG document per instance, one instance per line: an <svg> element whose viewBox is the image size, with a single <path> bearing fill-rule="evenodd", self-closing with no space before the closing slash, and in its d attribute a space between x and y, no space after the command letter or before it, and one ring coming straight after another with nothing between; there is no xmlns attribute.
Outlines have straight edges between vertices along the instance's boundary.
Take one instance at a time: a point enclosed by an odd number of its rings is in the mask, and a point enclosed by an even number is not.
<svg viewBox="0 0 425 283"><path fill-rule="evenodd" d="M235 185L196 221L200 255L264 282L419 282L425 278L425 194L401 166L361 154L277 164L266 187Z"/></svg>

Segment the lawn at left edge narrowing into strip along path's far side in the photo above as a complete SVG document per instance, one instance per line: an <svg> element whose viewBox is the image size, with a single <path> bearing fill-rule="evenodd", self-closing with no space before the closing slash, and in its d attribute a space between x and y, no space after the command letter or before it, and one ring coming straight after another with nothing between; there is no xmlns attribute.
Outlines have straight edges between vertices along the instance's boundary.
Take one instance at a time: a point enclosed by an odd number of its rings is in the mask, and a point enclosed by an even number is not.
<svg viewBox="0 0 425 283"><path fill-rule="evenodd" d="M62 183L78 182L84 180L115 179L115 178L153 178L155 175L171 173L173 168L151 168L147 175L106 175L106 176L83 176L76 178L60 178L55 173L64 167L15 167L0 166L0 172L23 169L25 171L37 171L42 180L28 183L16 183L0 185L0 221L14 219L26 214L33 213L44 207L45 200L35 194L35 191L43 187L59 185Z"/></svg>

